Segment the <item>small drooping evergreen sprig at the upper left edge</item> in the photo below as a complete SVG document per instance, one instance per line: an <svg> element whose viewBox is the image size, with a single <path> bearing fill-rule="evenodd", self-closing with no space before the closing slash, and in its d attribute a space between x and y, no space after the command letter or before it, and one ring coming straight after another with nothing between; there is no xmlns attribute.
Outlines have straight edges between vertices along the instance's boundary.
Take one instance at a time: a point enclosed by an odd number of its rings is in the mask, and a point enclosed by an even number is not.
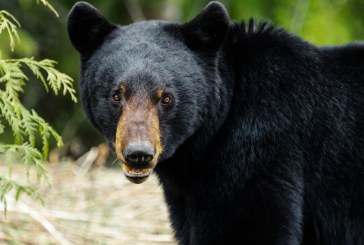
<svg viewBox="0 0 364 245"><path fill-rule="evenodd" d="M20 27L18 20L9 12L0 10L0 34L5 30L9 34L10 48L14 51L15 39L19 41L17 28Z"/></svg>

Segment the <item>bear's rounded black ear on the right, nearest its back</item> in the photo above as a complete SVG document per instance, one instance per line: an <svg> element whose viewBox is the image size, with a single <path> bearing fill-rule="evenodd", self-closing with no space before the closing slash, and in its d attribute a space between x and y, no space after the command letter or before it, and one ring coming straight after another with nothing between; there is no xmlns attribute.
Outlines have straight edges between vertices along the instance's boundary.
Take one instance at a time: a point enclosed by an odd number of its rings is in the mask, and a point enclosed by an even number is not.
<svg viewBox="0 0 364 245"><path fill-rule="evenodd" d="M224 5L210 2L193 20L182 26L185 43L192 50L217 51L229 30L229 15Z"/></svg>

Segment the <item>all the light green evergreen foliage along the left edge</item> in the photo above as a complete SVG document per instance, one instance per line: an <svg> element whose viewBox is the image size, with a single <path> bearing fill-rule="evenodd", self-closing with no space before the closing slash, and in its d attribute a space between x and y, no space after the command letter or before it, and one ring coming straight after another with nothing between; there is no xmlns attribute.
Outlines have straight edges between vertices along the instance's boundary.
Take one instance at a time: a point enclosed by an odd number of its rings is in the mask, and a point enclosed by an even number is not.
<svg viewBox="0 0 364 245"><path fill-rule="evenodd" d="M40 2L58 16L48 1ZM0 34L8 34L12 50L15 40L19 41L18 27L20 24L13 15L0 10ZM47 182L43 162L48 156L50 140L54 140L58 147L63 145L61 136L35 110L27 109L21 101L25 86L30 82L27 74L31 72L43 83L46 92L51 90L55 95L69 95L72 101L77 102L72 78L58 71L55 65L56 62L49 59L1 59L0 56L0 135L6 128L10 128L13 134L12 144L0 142L0 163L7 163L9 167L8 177L1 176L3 173L0 175L0 202L5 204L5 210L6 195L11 191L14 191L16 200L22 194L41 200L34 188L11 179L12 164L22 163L27 179L30 170L33 170L39 182Z"/></svg>

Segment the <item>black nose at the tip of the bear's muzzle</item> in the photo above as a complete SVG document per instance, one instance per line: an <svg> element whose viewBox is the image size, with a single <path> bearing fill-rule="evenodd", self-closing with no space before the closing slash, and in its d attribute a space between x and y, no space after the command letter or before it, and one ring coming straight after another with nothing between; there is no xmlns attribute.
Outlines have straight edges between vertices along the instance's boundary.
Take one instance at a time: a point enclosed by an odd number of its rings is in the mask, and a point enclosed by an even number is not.
<svg viewBox="0 0 364 245"><path fill-rule="evenodd" d="M130 165L149 164L154 156L154 149L147 143L131 143L124 150L124 157Z"/></svg>

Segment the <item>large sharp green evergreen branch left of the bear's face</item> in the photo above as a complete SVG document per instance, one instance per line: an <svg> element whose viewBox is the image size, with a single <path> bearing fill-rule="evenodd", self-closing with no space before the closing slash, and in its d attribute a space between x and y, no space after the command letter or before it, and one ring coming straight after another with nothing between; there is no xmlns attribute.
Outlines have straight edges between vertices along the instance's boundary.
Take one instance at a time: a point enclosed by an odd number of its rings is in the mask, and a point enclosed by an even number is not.
<svg viewBox="0 0 364 245"><path fill-rule="evenodd" d="M60 135L41 118L34 110L26 109L19 100L19 93L23 92L28 77L22 71L25 64L39 78L46 90L50 88L57 95L63 87L63 94L69 93L73 101L77 101L73 80L54 68L52 60L35 61L30 58L7 59L0 61L0 83L5 83L5 90L0 89L0 116L3 116L11 126L15 144L23 144L27 138L30 146L35 146L36 133L39 132L43 146L44 158L49 152L49 139L56 140L57 146L63 145ZM45 79L43 72L47 73Z"/></svg>

